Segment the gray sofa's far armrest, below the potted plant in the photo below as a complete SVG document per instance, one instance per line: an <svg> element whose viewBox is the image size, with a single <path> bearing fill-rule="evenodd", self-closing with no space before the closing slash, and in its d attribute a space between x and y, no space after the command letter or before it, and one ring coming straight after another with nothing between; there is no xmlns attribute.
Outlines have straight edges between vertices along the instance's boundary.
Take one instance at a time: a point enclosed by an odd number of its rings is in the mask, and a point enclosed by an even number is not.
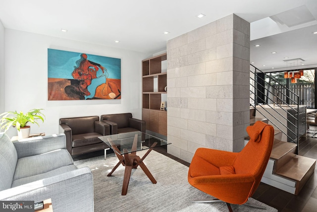
<svg viewBox="0 0 317 212"><path fill-rule="evenodd" d="M66 149L65 134L38 136L13 141L18 159Z"/></svg>

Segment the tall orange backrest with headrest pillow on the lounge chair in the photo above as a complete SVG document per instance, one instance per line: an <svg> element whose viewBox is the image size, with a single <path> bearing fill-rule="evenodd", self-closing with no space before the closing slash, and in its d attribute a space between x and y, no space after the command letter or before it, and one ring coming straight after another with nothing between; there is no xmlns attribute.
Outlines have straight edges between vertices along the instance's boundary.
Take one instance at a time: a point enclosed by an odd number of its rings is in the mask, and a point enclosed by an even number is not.
<svg viewBox="0 0 317 212"><path fill-rule="evenodd" d="M248 126L247 131L251 139L238 154L233 166L236 174L252 174L255 177L252 196L260 184L272 151L274 128L258 121L253 126Z"/></svg>

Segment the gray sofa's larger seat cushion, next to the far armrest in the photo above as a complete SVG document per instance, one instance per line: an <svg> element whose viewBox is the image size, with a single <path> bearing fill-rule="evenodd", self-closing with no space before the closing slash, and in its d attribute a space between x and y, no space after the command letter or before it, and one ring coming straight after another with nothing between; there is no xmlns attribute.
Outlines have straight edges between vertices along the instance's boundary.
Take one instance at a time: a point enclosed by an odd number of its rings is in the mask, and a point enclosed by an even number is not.
<svg viewBox="0 0 317 212"><path fill-rule="evenodd" d="M21 158L16 164L13 180L42 174L70 164L73 164L73 159L65 149Z"/></svg>

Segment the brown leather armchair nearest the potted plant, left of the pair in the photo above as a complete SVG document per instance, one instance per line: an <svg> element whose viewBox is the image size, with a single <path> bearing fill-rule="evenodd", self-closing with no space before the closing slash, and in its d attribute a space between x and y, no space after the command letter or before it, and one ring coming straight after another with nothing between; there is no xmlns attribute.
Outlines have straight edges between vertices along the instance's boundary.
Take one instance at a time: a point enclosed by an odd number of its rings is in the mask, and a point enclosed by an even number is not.
<svg viewBox="0 0 317 212"><path fill-rule="evenodd" d="M109 135L110 126L99 121L99 116L59 119L59 133L66 135L66 149L70 155L79 155L109 148L98 136Z"/></svg>

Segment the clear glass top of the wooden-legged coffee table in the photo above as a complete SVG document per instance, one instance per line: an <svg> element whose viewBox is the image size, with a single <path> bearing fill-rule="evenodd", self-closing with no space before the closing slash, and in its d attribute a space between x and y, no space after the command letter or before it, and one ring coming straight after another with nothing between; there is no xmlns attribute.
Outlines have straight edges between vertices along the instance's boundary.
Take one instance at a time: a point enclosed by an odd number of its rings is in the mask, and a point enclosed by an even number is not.
<svg viewBox="0 0 317 212"><path fill-rule="evenodd" d="M98 137L120 155L168 145L166 140L141 131Z"/></svg>

